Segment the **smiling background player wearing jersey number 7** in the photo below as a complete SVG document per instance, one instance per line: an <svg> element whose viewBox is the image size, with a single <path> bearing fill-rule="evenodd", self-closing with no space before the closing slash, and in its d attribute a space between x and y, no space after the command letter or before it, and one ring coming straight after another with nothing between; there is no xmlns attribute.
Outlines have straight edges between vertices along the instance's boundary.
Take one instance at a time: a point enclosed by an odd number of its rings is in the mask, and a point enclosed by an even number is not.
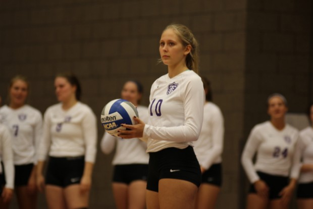
<svg viewBox="0 0 313 209"><path fill-rule="evenodd" d="M15 192L22 209L37 208L36 147L42 137L42 115L26 104L28 94L28 80L16 76L9 85L9 105L0 108L2 122L12 135Z"/></svg>

